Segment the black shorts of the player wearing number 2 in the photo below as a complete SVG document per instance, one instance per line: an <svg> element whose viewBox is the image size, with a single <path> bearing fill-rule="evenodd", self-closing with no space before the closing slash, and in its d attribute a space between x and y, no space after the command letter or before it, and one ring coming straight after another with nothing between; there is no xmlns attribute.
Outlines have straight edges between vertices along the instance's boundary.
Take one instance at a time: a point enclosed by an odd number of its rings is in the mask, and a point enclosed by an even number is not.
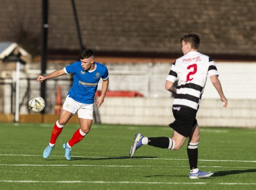
<svg viewBox="0 0 256 190"><path fill-rule="evenodd" d="M197 119L195 119L197 110L188 107L174 106L172 112L175 121L170 123L169 126L182 136L189 137L191 129L197 125Z"/></svg>

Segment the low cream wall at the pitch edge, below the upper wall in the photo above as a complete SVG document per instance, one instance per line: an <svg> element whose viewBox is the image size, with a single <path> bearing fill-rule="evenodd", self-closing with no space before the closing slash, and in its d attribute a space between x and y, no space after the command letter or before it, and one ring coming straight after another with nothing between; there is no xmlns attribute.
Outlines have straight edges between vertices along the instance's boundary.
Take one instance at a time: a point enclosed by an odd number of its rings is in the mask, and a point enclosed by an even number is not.
<svg viewBox="0 0 256 190"><path fill-rule="evenodd" d="M99 108L102 123L118 125L168 126L174 118L173 98L106 97ZM256 127L256 100L203 99L197 114L198 124L208 127Z"/></svg>

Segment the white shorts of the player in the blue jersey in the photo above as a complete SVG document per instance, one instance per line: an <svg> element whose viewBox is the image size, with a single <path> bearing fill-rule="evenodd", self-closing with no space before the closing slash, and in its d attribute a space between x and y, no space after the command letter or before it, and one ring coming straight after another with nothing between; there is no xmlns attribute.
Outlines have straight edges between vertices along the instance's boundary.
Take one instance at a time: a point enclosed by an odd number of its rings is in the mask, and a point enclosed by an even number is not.
<svg viewBox="0 0 256 190"><path fill-rule="evenodd" d="M79 103L67 96L62 109L69 111L72 114L76 114L77 112L78 118L93 120L93 104Z"/></svg>

